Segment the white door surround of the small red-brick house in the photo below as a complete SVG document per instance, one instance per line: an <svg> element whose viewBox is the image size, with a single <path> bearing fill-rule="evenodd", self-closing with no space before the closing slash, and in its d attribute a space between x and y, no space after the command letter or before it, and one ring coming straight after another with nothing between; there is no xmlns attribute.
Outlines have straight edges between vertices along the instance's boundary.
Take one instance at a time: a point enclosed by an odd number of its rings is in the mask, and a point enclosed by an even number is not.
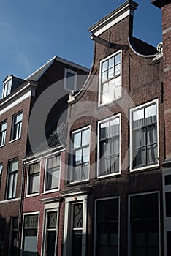
<svg viewBox="0 0 171 256"><path fill-rule="evenodd" d="M45 204L44 210L44 222L43 222L43 236L42 236L42 256L46 255L46 246L47 246L47 215L51 211L57 211L57 219L56 219L56 244L55 244L55 252L57 249L57 241L58 241L58 216L59 216L59 202L56 203L47 203Z"/></svg>

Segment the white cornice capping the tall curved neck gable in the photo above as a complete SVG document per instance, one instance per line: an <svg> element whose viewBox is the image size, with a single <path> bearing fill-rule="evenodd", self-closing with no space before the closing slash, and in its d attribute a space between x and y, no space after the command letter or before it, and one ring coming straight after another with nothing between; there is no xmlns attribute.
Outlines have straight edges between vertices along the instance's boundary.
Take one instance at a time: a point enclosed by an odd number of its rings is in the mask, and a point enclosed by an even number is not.
<svg viewBox="0 0 171 256"><path fill-rule="evenodd" d="M93 26L91 26L88 31L90 31L95 36L99 36L107 29L110 29L111 26L115 25L119 21L126 18L128 15L134 14L134 10L137 9L138 4L132 0L128 0L123 3L120 7L110 12L107 16L99 20Z"/></svg>

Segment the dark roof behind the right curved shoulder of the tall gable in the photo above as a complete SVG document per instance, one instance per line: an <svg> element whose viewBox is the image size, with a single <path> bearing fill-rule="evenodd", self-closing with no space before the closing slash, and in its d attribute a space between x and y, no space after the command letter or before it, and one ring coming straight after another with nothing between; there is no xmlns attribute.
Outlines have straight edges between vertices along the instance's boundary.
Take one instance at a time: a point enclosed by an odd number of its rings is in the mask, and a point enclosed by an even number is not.
<svg viewBox="0 0 171 256"><path fill-rule="evenodd" d="M142 55L155 55L157 53L157 50L152 45L149 45L147 42L143 42L140 39L137 39L136 37L129 38L129 41L132 45L132 48Z"/></svg>

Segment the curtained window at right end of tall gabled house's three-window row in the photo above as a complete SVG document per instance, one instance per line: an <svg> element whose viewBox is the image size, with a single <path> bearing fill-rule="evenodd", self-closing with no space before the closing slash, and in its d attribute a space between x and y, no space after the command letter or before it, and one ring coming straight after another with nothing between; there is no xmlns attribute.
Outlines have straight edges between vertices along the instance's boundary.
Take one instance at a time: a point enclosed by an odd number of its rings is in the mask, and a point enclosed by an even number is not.
<svg viewBox="0 0 171 256"><path fill-rule="evenodd" d="M132 169L158 164L156 101L134 108L132 114Z"/></svg>

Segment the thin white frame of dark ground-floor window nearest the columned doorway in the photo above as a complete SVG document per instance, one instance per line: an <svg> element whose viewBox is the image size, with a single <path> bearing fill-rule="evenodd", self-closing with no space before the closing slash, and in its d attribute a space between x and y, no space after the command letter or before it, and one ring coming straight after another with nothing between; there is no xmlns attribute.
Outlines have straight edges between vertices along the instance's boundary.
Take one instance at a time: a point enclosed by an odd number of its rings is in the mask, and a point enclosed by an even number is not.
<svg viewBox="0 0 171 256"><path fill-rule="evenodd" d="M96 256L96 204L99 201L118 199L118 255L120 255L120 197L103 197L95 200L95 210L94 210L94 256Z"/></svg>

